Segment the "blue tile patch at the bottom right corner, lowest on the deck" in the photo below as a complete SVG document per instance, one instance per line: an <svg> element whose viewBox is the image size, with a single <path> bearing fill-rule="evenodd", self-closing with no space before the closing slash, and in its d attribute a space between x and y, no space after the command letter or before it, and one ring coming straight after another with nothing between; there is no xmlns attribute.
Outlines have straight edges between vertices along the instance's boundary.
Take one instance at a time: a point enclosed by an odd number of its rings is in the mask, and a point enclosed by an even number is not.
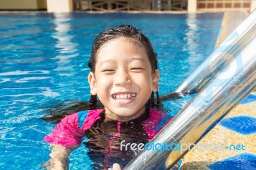
<svg viewBox="0 0 256 170"><path fill-rule="evenodd" d="M232 169L232 170L251 170L256 169L256 155L252 153L241 153L232 157L219 160L208 164L211 170Z"/></svg>

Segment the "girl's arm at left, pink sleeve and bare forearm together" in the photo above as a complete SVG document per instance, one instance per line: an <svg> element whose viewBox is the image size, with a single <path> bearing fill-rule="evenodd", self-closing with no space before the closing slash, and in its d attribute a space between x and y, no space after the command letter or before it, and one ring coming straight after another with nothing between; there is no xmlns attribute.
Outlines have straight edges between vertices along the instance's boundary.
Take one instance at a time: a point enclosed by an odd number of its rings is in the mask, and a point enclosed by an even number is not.
<svg viewBox="0 0 256 170"><path fill-rule="evenodd" d="M68 155L79 147L83 132L78 126L77 114L66 116L61 120L44 141L51 143L50 159L44 166L47 169L68 169Z"/></svg>

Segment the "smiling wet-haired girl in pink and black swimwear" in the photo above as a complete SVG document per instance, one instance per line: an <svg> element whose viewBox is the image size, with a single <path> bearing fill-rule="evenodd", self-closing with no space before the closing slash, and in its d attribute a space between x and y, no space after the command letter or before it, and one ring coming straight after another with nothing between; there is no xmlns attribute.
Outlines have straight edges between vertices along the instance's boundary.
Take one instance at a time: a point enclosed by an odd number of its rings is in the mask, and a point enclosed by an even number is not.
<svg viewBox="0 0 256 170"><path fill-rule="evenodd" d="M106 169L115 162L124 167L137 151L120 148L121 141L147 143L163 125L160 121L166 114L157 109L156 53L140 29L122 25L100 33L88 66L92 71L88 75L90 110L65 116L44 138L53 146L49 169L67 168L68 155L81 143L90 150L93 168ZM46 119L58 122L60 118Z"/></svg>

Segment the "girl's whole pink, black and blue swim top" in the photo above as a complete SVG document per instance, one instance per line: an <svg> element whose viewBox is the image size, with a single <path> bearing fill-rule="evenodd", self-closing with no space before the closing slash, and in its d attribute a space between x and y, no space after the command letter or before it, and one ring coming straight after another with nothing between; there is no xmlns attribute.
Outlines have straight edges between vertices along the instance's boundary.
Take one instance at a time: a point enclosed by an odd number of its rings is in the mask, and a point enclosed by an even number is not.
<svg viewBox="0 0 256 170"><path fill-rule="evenodd" d="M83 144L90 150L87 154L98 166L100 164L100 169L115 162L124 167L137 153L120 151L120 142L147 143L168 120L170 117L165 112L153 108L127 122L104 122L104 109L81 111L63 118L44 141L72 150L82 143L85 136L88 140Z"/></svg>

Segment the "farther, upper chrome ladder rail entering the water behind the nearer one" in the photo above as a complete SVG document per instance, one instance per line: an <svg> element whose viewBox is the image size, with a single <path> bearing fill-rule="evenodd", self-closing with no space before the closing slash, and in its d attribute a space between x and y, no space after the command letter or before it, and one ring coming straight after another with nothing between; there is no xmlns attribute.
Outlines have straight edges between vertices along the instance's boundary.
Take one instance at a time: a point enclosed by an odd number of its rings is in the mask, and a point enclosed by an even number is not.
<svg viewBox="0 0 256 170"><path fill-rule="evenodd" d="M225 68L256 33L256 10L240 24L228 38L217 47L196 70L175 90L177 93L196 93ZM218 67L216 67L218 65ZM215 68L212 70L212 68Z"/></svg>

